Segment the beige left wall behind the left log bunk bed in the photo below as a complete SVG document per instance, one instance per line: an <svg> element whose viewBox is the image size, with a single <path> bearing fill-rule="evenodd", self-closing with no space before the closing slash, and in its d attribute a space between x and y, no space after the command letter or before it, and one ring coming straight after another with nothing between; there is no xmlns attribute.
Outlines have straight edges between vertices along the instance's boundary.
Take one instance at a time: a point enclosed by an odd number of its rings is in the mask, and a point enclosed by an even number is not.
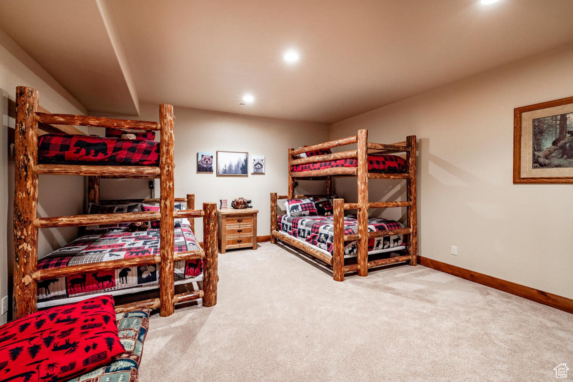
<svg viewBox="0 0 573 382"><path fill-rule="evenodd" d="M15 120L8 116L8 100L15 100L16 86L30 86L40 92L40 104L52 112L83 114L81 107L57 82L23 52L0 30L0 90L2 91L2 132L0 134L0 297L11 294L13 269L13 203L14 161L13 145L8 144L9 128ZM84 207L84 179L73 176L41 175L38 195L39 216L79 214ZM65 203L62 201L65 200ZM75 238L77 230L40 230L38 255L50 251ZM9 302L11 310L11 297ZM0 316L0 324L7 314Z"/></svg>

